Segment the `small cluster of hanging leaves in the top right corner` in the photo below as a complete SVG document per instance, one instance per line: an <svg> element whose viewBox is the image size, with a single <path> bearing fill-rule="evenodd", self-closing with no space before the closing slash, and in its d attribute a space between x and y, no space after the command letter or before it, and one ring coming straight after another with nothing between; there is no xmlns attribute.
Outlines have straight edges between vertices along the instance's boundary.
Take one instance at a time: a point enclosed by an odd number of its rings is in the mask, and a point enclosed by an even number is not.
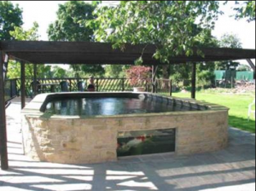
<svg viewBox="0 0 256 191"><path fill-rule="evenodd" d="M242 2L242 3L241 3ZM255 1L236 1L236 20L246 18L248 22L255 20Z"/></svg>

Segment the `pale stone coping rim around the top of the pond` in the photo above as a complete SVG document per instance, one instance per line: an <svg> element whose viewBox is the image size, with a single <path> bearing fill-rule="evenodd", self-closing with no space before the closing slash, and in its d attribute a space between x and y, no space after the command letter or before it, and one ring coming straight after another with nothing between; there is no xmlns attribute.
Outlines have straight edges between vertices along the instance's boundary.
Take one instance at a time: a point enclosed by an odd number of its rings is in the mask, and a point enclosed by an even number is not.
<svg viewBox="0 0 256 191"><path fill-rule="evenodd" d="M50 113L44 113L44 107L49 99L66 96L66 97L76 97L76 96L134 96L138 97L140 95L146 96L148 99L165 99L165 101L175 101L177 104L183 104L186 106L194 106L198 108L205 108L206 110L199 111L182 111L182 112L171 112L171 113L136 113L136 114L123 114L123 115L113 115L113 116L61 116L61 115L52 115ZM109 93L109 92L61 92L61 93L49 93L49 94L40 94L36 96L26 107L21 111L22 114L27 117L35 117L40 119L113 119L113 118L133 118L133 117L151 117L151 116L167 116L167 115L184 115L184 114L193 114L193 113L215 113L219 111L229 111L230 108L220 106L217 104L207 103L205 101L196 101L195 99L189 98L178 98L178 97L168 97L160 96L157 94L141 92L118 92L118 93Z"/></svg>

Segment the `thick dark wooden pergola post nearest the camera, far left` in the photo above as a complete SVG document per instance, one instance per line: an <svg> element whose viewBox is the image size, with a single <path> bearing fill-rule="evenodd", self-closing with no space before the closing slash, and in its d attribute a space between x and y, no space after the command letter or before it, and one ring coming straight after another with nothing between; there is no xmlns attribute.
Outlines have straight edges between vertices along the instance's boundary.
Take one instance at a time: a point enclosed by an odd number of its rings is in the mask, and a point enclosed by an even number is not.
<svg viewBox="0 0 256 191"><path fill-rule="evenodd" d="M4 80L3 80L3 52L0 51L0 154L1 169L8 170L8 152L7 152L7 130L4 100Z"/></svg>

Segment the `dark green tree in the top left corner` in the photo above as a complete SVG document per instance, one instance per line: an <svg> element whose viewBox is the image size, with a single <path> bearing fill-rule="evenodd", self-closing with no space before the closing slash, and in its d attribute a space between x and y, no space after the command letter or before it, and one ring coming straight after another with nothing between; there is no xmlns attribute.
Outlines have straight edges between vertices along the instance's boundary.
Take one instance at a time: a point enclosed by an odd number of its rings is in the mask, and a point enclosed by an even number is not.
<svg viewBox="0 0 256 191"><path fill-rule="evenodd" d="M0 1L0 40L14 40L9 32L15 30L15 26L22 26L22 10L18 5L9 1Z"/></svg>

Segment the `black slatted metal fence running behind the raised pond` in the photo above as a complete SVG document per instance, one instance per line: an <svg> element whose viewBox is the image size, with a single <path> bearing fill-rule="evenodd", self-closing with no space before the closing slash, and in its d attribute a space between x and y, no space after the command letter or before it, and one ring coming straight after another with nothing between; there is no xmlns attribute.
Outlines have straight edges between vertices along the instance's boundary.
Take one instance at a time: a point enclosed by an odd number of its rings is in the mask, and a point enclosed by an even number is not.
<svg viewBox="0 0 256 191"><path fill-rule="evenodd" d="M90 78L38 78L37 79L37 94L49 92L61 92L61 84L67 84L67 91L79 91L80 84L84 84L86 90ZM153 85L146 80L143 86L147 92L152 92ZM130 84L129 78L95 78L96 91L102 92L120 92L132 91L133 87ZM20 96L20 78L7 79L5 82L5 100L9 101L15 96ZM54 88L53 88L54 86ZM25 81L26 97L34 96L33 79L27 78ZM40 88L38 88L40 87ZM172 80L157 79L155 82L155 93L165 96L172 96Z"/></svg>

